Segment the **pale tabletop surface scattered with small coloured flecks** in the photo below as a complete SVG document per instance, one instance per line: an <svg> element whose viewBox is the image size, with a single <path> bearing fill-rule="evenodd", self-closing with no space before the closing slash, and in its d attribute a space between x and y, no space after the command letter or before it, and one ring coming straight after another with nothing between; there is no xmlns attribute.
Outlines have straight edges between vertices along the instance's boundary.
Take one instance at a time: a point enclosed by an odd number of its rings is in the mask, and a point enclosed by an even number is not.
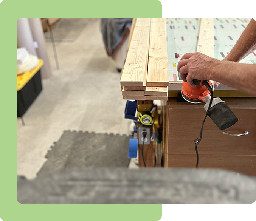
<svg viewBox="0 0 256 221"><path fill-rule="evenodd" d="M214 19L214 57L222 60L231 51L251 18ZM187 52L195 52L200 27L198 18L167 18L166 37L170 82L182 82L177 63ZM242 63L256 63L256 53L251 53Z"/></svg>

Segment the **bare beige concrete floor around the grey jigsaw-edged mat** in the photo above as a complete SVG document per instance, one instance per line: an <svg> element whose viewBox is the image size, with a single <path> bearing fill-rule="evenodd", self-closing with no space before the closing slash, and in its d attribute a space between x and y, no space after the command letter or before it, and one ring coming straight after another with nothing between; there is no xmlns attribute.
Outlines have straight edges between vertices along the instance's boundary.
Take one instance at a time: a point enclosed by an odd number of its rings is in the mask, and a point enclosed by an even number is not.
<svg viewBox="0 0 256 221"><path fill-rule="evenodd" d="M57 41L60 69L47 41L52 76L42 81L43 91L23 116L17 118L17 174L33 179L45 155L64 130L129 134L124 119L120 74L107 57L99 19L88 20L73 41Z"/></svg>

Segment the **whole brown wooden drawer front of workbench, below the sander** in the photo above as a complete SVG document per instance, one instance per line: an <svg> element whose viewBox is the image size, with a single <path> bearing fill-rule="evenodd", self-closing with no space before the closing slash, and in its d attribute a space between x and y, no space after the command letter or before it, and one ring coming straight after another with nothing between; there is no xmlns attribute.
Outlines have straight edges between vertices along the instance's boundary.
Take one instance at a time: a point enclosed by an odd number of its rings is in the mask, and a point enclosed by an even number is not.
<svg viewBox="0 0 256 221"><path fill-rule="evenodd" d="M199 168L222 168L256 176L256 98L223 99L238 117L238 122L224 130L234 137L222 134L207 117L203 138L198 146ZM168 101L166 150L167 167L195 167L194 140L200 136L205 110L202 104Z"/></svg>

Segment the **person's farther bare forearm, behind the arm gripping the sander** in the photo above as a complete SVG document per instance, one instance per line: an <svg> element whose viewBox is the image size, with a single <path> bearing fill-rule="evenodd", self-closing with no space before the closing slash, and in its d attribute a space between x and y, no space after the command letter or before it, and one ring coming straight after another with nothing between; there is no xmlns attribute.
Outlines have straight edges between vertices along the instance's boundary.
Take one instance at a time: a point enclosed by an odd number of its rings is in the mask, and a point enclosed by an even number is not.
<svg viewBox="0 0 256 221"><path fill-rule="evenodd" d="M239 62L256 50L256 20L251 19L233 49L223 60Z"/></svg>

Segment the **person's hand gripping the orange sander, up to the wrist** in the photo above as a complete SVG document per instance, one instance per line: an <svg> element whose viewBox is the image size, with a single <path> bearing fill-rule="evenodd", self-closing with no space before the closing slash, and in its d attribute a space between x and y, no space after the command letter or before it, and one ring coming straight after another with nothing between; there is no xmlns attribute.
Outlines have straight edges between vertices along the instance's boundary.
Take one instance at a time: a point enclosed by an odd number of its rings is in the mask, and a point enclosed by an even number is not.
<svg viewBox="0 0 256 221"><path fill-rule="evenodd" d="M220 61L199 52L186 53L178 62L177 71L182 80L194 88L193 79L211 80L217 62Z"/></svg>

